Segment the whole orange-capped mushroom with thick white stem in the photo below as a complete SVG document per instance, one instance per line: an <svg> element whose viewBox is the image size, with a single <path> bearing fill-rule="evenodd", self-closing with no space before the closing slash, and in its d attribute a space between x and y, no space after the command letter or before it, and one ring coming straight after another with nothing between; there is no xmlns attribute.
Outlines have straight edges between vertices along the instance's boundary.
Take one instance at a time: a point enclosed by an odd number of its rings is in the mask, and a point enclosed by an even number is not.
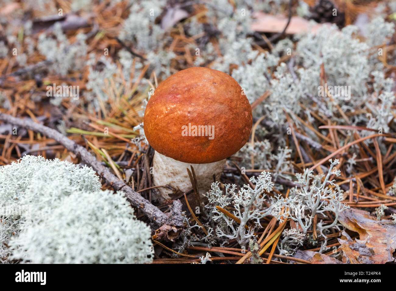
<svg viewBox="0 0 396 291"><path fill-rule="evenodd" d="M153 182L187 191L186 168L194 167L200 194L219 180L226 158L249 139L252 112L238 82L228 74L194 67L173 74L148 100L144 131L154 148ZM175 199L158 188L161 202Z"/></svg>

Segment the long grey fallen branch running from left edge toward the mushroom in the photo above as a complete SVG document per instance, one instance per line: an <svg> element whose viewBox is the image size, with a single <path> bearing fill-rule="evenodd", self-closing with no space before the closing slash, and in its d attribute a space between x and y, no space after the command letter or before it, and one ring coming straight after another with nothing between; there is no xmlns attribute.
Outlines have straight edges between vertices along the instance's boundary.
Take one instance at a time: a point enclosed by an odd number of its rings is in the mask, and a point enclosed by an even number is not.
<svg viewBox="0 0 396 291"><path fill-rule="evenodd" d="M78 145L55 129L32 122L30 120L15 118L4 113L0 113L0 120L8 124L39 132L50 139L54 139L58 143L61 143L70 152L76 154L85 164L91 166L96 171L96 173L106 181L107 184L114 188L114 190L123 191L126 194L126 198L129 200L129 202L131 202L131 204L137 209L140 209L148 217L148 219L150 219L153 226L159 228L156 230L158 237L173 241L179 236L181 230L183 229L181 202L179 200L175 200L173 202L173 206L169 213L163 213L160 209L158 209L158 207L152 205L139 193L135 192L127 184L113 175L107 167L104 167L101 162L97 161L96 158L92 156L83 146ZM162 233L162 230L165 230L165 232ZM168 233L169 230L172 231Z"/></svg>

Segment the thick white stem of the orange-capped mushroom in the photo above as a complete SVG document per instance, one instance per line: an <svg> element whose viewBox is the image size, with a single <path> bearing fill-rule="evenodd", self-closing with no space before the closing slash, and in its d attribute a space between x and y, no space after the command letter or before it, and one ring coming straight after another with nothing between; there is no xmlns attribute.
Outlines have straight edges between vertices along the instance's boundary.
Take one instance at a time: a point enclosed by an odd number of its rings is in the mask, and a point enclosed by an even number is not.
<svg viewBox="0 0 396 291"><path fill-rule="evenodd" d="M216 181L220 180L225 161L221 160L209 164L188 164L164 156L156 151L153 158L153 182L156 186L168 184L173 188L186 192L191 189L187 168L190 169L190 165L192 165L198 182L199 194L202 197L203 193L206 194L210 190L210 185L213 183L213 174L216 176ZM157 190L160 193L157 197L160 202L176 198L175 194L172 195L172 190L168 188L161 187L157 188Z"/></svg>

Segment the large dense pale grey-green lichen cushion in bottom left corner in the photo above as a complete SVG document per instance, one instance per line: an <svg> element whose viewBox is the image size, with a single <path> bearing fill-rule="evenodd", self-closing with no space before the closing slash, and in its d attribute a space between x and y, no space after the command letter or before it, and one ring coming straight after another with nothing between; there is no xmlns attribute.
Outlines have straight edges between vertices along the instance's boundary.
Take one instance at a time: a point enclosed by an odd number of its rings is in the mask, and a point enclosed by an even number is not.
<svg viewBox="0 0 396 291"><path fill-rule="evenodd" d="M19 210L0 213L2 262L152 261L150 228L122 192L101 190L90 167L24 156L0 167L0 201Z"/></svg>

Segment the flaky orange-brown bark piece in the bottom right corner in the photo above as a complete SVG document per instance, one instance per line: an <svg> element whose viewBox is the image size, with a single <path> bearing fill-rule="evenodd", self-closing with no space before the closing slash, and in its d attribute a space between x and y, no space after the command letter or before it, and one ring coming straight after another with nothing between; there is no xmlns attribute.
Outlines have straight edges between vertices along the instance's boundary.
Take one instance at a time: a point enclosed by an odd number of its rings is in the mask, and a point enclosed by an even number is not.
<svg viewBox="0 0 396 291"><path fill-rule="evenodd" d="M396 224L392 221L378 221L367 211L351 208L340 213L339 222L360 235L359 240L352 240L343 232L346 240L338 239L344 263L385 264L394 261Z"/></svg>

